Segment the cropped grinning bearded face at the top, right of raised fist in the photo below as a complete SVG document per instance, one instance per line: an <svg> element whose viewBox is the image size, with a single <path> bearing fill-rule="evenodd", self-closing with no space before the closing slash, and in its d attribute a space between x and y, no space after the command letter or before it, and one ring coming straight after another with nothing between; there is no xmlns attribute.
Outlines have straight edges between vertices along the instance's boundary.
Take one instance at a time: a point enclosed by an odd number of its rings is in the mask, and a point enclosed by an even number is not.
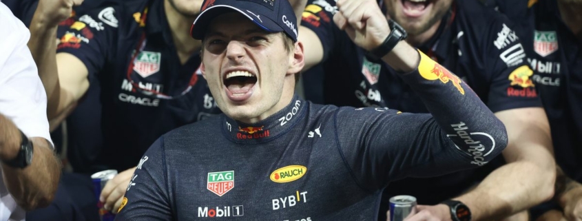
<svg viewBox="0 0 582 221"><path fill-rule="evenodd" d="M433 27L451 3L453 0L384 0L391 19L411 35L420 35Z"/></svg>

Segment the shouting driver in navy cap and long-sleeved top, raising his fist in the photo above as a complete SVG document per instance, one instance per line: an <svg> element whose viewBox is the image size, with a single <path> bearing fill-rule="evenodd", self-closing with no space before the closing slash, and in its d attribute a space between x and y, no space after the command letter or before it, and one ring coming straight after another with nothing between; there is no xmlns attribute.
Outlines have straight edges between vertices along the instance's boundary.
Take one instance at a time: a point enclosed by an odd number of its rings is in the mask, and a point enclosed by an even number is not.
<svg viewBox="0 0 582 221"><path fill-rule="evenodd" d="M191 34L203 39L200 70L224 114L159 138L118 220L373 220L389 181L477 167L506 146L503 124L475 93L432 71L457 76L405 41L384 41L403 33L377 6L349 1L334 20L357 45L382 50L433 116L293 96L304 54L289 3L205 6Z"/></svg>

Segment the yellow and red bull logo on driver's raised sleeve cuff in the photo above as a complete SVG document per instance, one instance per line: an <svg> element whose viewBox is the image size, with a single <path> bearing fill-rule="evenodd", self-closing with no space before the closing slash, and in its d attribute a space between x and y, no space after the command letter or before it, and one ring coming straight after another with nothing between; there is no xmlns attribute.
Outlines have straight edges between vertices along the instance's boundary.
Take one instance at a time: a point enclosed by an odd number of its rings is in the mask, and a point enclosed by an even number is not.
<svg viewBox="0 0 582 221"><path fill-rule="evenodd" d="M465 94L464 88L461 86L461 78L455 74L450 73L445 67L439 65L432 59L430 59L426 54L420 52L420 64L418 65L418 72L420 75L428 81L435 81L439 79L442 83L446 84L451 82L461 94Z"/></svg>

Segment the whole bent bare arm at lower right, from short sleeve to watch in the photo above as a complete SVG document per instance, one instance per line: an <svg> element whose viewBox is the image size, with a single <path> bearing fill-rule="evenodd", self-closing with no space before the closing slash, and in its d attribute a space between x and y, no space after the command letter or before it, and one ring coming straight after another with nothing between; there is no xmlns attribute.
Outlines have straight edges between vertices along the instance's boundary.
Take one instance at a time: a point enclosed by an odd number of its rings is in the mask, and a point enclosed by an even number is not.
<svg viewBox="0 0 582 221"><path fill-rule="evenodd" d="M541 107L510 109L495 114L507 127L507 164L490 173L476 189L456 198L473 220L501 220L553 196L556 166L550 126Z"/></svg>

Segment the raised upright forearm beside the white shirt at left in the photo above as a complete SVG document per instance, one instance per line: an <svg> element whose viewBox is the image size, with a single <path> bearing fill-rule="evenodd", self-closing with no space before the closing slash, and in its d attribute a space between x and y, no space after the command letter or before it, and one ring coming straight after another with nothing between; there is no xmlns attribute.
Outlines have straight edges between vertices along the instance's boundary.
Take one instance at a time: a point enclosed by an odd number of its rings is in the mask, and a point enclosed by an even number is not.
<svg viewBox="0 0 582 221"><path fill-rule="evenodd" d="M56 67L56 29L57 24L47 21L37 9L30 23L30 40L28 48L37 63L39 76L47 94L48 118L54 118L63 109L61 103L61 87L59 72Z"/></svg>

